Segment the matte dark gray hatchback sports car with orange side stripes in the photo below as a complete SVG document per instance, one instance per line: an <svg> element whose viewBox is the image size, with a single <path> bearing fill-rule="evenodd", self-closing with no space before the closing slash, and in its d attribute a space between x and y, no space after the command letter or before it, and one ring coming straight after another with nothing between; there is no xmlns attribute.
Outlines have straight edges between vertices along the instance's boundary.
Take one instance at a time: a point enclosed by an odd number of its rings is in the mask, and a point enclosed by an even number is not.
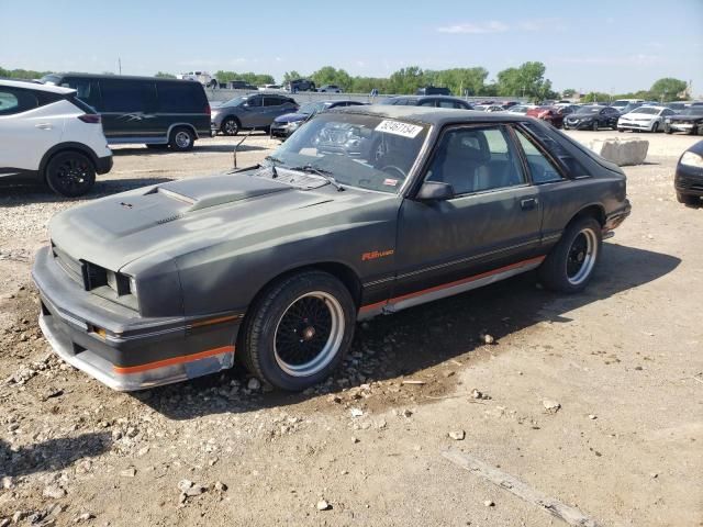
<svg viewBox="0 0 703 527"><path fill-rule="evenodd" d="M531 117L334 110L261 165L57 214L33 270L40 322L116 390L235 354L301 390L341 362L359 318L535 268L582 290L629 210L617 166Z"/></svg>

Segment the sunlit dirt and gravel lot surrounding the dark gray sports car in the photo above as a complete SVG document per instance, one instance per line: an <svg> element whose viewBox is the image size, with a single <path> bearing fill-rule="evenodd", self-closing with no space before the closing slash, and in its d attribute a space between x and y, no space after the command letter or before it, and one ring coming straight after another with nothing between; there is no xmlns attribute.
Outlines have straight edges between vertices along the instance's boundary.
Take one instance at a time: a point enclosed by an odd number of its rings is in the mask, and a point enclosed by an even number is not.
<svg viewBox="0 0 703 527"><path fill-rule="evenodd" d="M375 318L344 370L300 395L249 389L239 369L121 394L63 365L30 268L75 202L3 189L0 525L566 525L447 461L451 448L599 525L702 526L703 209L672 189L695 138L646 138L648 164L626 169L633 214L585 293L527 274ZM90 198L225 169L234 143L115 148ZM275 145L249 137L239 166Z"/></svg>

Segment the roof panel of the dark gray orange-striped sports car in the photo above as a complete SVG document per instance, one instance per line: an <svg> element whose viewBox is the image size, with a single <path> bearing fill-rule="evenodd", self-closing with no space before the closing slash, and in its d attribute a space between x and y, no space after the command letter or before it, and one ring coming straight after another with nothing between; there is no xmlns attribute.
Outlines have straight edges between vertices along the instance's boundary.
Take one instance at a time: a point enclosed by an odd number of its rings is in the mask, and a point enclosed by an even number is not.
<svg viewBox="0 0 703 527"><path fill-rule="evenodd" d="M451 108L424 108L424 106L401 106L394 104L371 104L368 106L346 106L333 109L335 113L354 113L357 115L371 115L375 117L398 119L402 121L413 121L422 124L439 125L476 122L520 122L525 117L520 114L510 113L487 113L475 110L458 110Z"/></svg>

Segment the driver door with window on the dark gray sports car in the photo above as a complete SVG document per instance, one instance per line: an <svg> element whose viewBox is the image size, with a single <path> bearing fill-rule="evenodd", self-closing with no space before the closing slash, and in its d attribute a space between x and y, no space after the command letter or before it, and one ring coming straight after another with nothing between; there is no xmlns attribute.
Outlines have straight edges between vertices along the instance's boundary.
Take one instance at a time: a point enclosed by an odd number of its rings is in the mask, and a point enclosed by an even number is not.
<svg viewBox="0 0 703 527"><path fill-rule="evenodd" d="M540 204L504 126L448 128L423 180L451 184L455 195L403 201L391 305L538 265Z"/></svg>

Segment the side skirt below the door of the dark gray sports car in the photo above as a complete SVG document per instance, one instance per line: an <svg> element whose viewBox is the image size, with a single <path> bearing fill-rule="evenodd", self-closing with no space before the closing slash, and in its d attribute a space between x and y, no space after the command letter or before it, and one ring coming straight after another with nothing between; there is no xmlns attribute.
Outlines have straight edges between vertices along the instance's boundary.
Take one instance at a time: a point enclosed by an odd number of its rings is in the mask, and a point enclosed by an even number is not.
<svg viewBox="0 0 703 527"><path fill-rule="evenodd" d="M413 307L415 305L432 302L434 300L453 296L455 294L471 291L473 289L482 288L494 282L499 282L515 274L527 272L539 267L545 259L544 256L531 258L528 260L511 264L510 266L500 267L490 271L475 274L472 277L464 278L442 285L435 285L434 288L424 289L414 293L403 294L402 296L395 296L388 301L377 302L375 304L364 305L359 310L357 319L364 321L371 318L380 314L391 314L406 307Z"/></svg>

